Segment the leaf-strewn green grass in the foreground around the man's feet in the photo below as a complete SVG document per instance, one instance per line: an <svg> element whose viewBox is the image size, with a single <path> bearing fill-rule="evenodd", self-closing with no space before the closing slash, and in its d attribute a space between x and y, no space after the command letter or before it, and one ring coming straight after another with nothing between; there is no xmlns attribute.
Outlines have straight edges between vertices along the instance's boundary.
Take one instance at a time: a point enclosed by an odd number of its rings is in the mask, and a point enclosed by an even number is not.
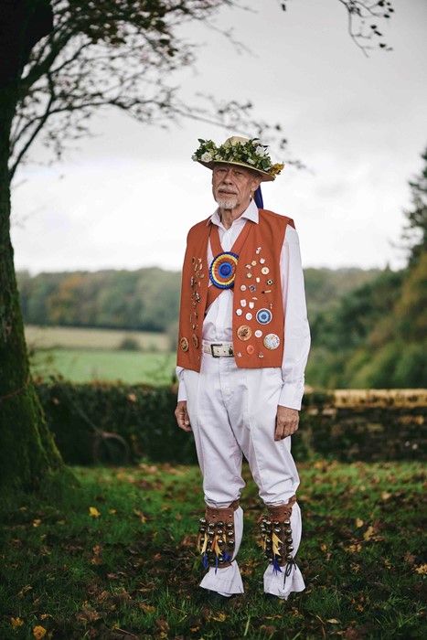
<svg viewBox="0 0 427 640"><path fill-rule="evenodd" d="M245 594L216 606L197 587L196 467L74 467L75 493L17 496L0 512L0 637L32 638L37 625L67 640L425 637L423 465L317 461L299 471L306 590L287 602L262 595L261 506L247 469Z"/></svg>

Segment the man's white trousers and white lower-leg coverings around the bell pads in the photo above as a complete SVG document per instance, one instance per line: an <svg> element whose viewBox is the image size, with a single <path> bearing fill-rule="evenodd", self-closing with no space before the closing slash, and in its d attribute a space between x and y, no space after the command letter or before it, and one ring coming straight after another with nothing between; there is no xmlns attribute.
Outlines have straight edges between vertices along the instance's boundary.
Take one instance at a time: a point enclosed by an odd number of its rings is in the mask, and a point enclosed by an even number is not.
<svg viewBox="0 0 427 640"><path fill-rule="evenodd" d="M238 368L234 357L203 354L200 373L184 370L187 411L193 430L197 459L203 475L205 502L209 507L229 507L240 498L242 456L258 485L265 505L278 506L294 496L300 479L291 453L291 436L274 440L277 405L283 387L281 368ZM234 512L236 557L243 533L243 511ZM291 516L294 552L301 533L301 509L294 503ZM261 552L261 549L260 549ZM283 568L284 569L284 568ZM200 586L222 595L242 593L237 561L230 567L210 567ZM301 571L294 564L289 576L264 572L264 592L287 599L304 591Z"/></svg>

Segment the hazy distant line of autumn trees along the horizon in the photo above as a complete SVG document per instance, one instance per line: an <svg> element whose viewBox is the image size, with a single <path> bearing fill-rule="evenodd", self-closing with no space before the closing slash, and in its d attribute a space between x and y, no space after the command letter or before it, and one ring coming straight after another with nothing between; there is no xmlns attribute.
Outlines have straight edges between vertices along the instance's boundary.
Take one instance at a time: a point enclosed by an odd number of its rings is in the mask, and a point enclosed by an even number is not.
<svg viewBox="0 0 427 640"><path fill-rule="evenodd" d="M306 269L310 320L379 270ZM176 324L181 275L160 268L137 271L17 273L27 325L86 326L167 332Z"/></svg>

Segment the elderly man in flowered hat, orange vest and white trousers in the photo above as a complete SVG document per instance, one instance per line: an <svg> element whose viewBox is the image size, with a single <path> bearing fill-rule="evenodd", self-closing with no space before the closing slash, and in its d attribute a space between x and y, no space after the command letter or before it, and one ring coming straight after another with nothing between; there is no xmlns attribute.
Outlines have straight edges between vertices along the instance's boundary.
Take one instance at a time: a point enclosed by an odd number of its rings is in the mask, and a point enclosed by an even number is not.
<svg viewBox="0 0 427 640"><path fill-rule="evenodd" d="M243 531L242 456L266 507L264 592L304 590L294 560L300 483L291 453L310 349L304 275L294 221L258 208L254 193L283 169L258 139L199 140L193 159L212 170L218 208L189 230L176 374L176 421L192 431L206 503L197 548L200 586L243 592L236 556Z"/></svg>

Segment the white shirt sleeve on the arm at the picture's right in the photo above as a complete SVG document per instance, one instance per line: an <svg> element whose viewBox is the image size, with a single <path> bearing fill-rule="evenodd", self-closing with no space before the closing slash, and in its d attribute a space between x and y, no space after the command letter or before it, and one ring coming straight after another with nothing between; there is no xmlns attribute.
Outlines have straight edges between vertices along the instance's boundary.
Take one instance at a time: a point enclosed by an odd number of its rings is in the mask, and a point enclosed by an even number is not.
<svg viewBox="0 0 427 640"><path fill-rule="evenodd" d="M283 389L279 404L301 409L304 395L304 370L311 336L305 303L304 272L298 233L287 225L281 253L281 277L284 312Z"/></svg>

